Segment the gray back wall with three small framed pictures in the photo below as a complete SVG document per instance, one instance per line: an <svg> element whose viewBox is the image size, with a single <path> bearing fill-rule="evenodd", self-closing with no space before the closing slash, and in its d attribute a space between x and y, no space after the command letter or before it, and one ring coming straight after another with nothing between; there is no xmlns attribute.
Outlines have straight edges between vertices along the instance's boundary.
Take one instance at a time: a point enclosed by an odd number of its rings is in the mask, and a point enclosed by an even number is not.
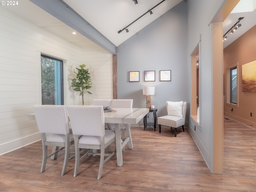
<svg viewBox="0 0 256 192"><path fill-rule="evenodd" d="M116 48L116 52L119 99L130 98L134 100L133 107L146 107L142 87L155 86L152 104L158 108L157 116L167 114L168 100L189 102L186 2L130 37ZM145 70L155 71L155 82L144 82ZM159 70L171 70L171 81L160 82ZM129 71L140 71L140 82L129 82ZM153 120L151 113L149 120Z"/></svg>

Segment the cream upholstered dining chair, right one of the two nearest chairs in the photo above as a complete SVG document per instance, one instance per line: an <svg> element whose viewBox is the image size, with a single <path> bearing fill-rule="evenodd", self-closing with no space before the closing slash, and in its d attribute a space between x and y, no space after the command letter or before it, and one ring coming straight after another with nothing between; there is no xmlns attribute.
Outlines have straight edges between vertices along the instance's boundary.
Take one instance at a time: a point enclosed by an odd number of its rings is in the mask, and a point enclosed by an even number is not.
<svg viewBox="0 0 256 192"><path fill-rule="evenodd" d="M75 170L74 177L78 174L79 162L90 154L100 155L100 167L98 179L101 178L103 164L105 164L115 152L105 154L105 148L115 141L115 133L105 130L103 106L68 106L70 124L75 142ZM78 136L82 135L79 139ZM88 151L80 157L80 148ZM91 153L92 150L100 150L100 153ZM104 156L108 156L104 159Z"/></svg>

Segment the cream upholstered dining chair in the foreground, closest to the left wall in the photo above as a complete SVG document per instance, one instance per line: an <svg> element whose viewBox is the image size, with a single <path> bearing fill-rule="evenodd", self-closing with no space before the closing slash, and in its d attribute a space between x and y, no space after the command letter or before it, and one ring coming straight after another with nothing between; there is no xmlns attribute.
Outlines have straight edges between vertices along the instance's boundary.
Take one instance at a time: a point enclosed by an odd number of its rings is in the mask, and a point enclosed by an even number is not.
<svg viewBox="0 0 256 192"><path fill-rule="evenodd" d="M35 105L33 108L42 138L43 157L40 172L44 172L47 158L51 156L53 157L52 159L57 158L58 152L65 148L64 163L61 172L61 175L64 175L68 160L74 157L69 158L69 148L70 145L74 144L74 138L70 133L66 106ZM46 134L50 135L46 136ZM50 155L47 155L48 146L53 146ZM62 148L59 149L59 146Z"/></svg>

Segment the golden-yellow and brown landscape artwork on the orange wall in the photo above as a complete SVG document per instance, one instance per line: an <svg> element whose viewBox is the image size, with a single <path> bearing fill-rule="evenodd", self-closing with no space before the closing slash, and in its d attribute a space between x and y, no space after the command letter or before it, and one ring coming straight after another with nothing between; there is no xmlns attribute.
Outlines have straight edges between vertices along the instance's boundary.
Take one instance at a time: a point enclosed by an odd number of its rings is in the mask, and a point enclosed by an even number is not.
<svg viewBox="0 0 256 192"><path fill-rule="evenodd" d="M256 60L242 65L243 92L256 92Z"/></svg>

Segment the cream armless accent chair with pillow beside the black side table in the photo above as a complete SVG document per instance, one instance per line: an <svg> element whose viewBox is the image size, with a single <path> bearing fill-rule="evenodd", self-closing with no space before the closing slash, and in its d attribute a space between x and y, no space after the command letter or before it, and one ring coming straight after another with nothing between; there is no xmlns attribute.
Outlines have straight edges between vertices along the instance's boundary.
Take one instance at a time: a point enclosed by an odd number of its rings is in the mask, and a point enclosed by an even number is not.
<svg viewBox="0 0 256 192"><path fill-rule="evenodd" d="M159 132L161 132L161 126L170 126L171 128L174 127L174 136L177 136L176 130L178 127L182 126L182 130L184 130L185 118L186 118L186 110L187 110L187 102L173 102L167 101L166 108L168 115L158 117L158 125L159 125Z"/></svg>

